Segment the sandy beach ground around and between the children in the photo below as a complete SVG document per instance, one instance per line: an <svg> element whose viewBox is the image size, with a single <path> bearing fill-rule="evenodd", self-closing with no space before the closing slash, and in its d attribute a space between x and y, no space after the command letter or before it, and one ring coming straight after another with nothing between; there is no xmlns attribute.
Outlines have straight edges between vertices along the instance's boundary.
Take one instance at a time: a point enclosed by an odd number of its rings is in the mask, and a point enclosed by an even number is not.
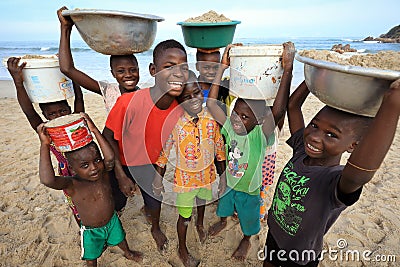
<svg viewBox="0 0 400 267"><path fill-rule="evenodd" d="M86 112L103 129L106 115L102 98L89 93L84 97ZM322 103L315 97L307 99L304 106L307 122L320 107ZM11 81L0 81L0 108L0 266L85 266L80 260L79 229L64 203L62 192L39 182L39 140L15 99ZM276 176L292 154L285 144L288 137L285 123L278 145ZM338 240L344 240L347 246L331 257L326 256L320 266L399 265L399 155L400 127L384 163L364 187L360 200L342 213L325 236L326 250L338 250ZM347 157L343 157L343 163ZM273 190L271 197L272 194ZM181 266L177 256L176 208L168 205L162 208L161 227L169 239L169 249L161 255L151 237L150 225L140 212L142 205L140 195L131 197L121 221L131 248L143 252L143 263L125 259L121 250L115 247L103 253L98 266ZM218 220L215 210L216 205L206 207L206 228ZM192 220L188 229L188 248L201 259L200 266L262 266L257 255L263 249L267 230L267 225L262 225L259 235L251 239L247 260L237 262L230 257L242 238L238 222L228 219L228 227L223 232L201 245ZM358 251L360 259L352 259L351 255L346 259L349 250ZM371 254L368 255L368 251ZM393 262L392 256L396 256L397 263ZM378 262L378 258L386 262ZM387 262L388 258L392 262Z"/></svg>

